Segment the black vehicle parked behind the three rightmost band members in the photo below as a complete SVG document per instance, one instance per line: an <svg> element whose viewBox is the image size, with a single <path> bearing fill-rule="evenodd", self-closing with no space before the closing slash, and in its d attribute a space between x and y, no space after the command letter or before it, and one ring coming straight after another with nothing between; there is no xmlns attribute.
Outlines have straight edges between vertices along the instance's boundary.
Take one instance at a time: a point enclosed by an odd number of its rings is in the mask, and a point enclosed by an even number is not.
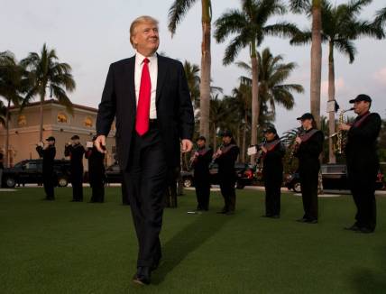
<svg viewBox="0 0 386 294"><path fill-rule="evenodd" d="M322 164L320 169L322 171L323 188L337 190L350 189L347 180L347 167L345 164ZM295 172L293 174L286 175L284 186L300 193L301 185L299 173ZM381 173L381 170L377 175L376 188L384 188L383 174Z"/></svg>

